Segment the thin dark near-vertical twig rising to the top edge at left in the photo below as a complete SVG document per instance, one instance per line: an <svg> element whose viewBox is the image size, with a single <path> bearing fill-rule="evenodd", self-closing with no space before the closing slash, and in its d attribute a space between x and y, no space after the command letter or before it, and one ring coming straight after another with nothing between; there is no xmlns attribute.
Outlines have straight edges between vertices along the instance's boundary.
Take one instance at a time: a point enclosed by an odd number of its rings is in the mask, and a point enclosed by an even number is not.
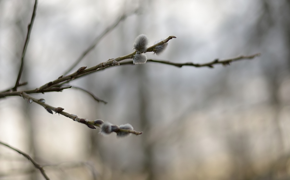
<svg viewBox="0 0 290 180"><path fill-rule="evenodd" d="M26 54L26 48L28 46L28 42L29 42L29 38L30 38L30 33L31 33L31 30L32 30L32 25L33 25L33 22L34 22L34 19L35 19L36 8L37 8L37 0L35 0L34 8L33 8L33 13L32 13L32 17L31 17L31 21L30 21L30 24L28 25L28 31L27 31L27 35L26 35L26 40L25 40L25 43L24 43L24 47L23 47L23 51L22 51L22 56L21 56L21 65L20 65L20 69L19 69L19 73L18 73L18 76L17 76L17 80L16 80L16 83L15 83L15 86L12 89L13 91L17 91L17 87L19 86L21 74L23 72L24 56Z"/></svg>

